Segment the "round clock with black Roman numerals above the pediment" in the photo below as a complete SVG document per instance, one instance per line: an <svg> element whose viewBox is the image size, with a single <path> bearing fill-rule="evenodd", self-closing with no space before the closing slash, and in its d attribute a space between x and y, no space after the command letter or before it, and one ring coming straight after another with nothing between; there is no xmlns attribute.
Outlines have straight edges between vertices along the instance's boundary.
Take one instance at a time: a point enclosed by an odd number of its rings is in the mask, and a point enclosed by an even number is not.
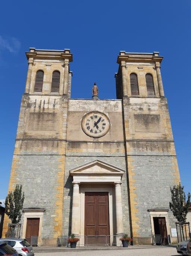
<svg viewBox="0 0 191 256"><path fill-rule="evenodd" d="M91 137L104 136L110 129L110 121L106 114L92 111L82 118L82 130Z"/></svg>

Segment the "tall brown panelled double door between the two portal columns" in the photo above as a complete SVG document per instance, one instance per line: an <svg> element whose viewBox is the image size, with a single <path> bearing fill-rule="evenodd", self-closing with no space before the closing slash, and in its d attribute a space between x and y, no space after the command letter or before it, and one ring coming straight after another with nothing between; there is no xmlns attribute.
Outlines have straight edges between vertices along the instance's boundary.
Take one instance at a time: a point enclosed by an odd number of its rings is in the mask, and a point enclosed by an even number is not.
<svg viewBox="0 0 191 256"><path fill-rule="evenodd" d="M85 235L109 235L108 192L85 193Z"/></svg>

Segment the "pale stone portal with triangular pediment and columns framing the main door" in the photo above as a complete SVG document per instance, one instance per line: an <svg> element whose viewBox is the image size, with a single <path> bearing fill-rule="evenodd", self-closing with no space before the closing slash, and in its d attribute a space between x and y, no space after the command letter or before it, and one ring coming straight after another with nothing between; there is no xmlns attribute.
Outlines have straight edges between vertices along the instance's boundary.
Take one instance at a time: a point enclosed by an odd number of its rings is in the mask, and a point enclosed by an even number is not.
<svg viewBox="0 0 191 256"><path fill-rule="evenodd" d="M85 192L108 192L109 193L109 226L110 235L113 235L113 207L116 210L116 234L123 234L123 213L121 178L124 170L109 165L100 160L87 163L70 170L73 176L73 199L72 199L72 230L75 235L84 235L85 217ZM95 187L85 187L85 184L94 184ZM101 188L96 184L103 184ZM103 188L105 184L105 187ZM82 186L82 187L81 187ZM115 204L113 204L113 187L115 186ZM80 213L80 214L79 214Z"/></svg>

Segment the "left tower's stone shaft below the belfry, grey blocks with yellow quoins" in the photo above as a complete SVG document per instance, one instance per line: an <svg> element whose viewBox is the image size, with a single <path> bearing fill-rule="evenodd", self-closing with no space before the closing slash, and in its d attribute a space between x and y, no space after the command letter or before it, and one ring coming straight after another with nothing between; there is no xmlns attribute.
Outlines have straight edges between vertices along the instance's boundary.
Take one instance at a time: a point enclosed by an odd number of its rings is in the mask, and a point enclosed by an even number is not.
<svg viewBox="0 0 191 256"><path fill-rule="evenodd" d="M42 240L62 234L67 111L60 96L22 97L9 191L22 184L24 208L45 208Z"/></svg>

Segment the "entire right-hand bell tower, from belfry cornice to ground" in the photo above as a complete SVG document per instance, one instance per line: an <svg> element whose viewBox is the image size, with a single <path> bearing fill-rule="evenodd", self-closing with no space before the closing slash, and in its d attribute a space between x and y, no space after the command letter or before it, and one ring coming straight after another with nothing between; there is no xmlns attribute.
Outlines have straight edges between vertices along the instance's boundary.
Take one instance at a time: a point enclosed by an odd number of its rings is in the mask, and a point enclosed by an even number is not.
<svg viewBox="0 0 191 256"><path fill-rule="evenodd" d="M162 59L159 52L125 51L120 51L117 59L116 93L123 108L131 236L137 243L142 243L143 237L144 243L150 243L147 227L157 211L164 216L168 213L173 226L169 187L180 181L160 73Z"/></svg>

